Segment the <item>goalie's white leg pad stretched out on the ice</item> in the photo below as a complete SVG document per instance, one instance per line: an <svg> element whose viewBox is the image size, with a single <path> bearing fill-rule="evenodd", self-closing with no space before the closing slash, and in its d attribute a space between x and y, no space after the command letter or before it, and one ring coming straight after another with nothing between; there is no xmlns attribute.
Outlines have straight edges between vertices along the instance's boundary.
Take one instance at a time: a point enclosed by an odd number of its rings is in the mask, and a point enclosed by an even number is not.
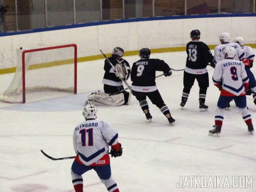
<svg viewBox="0 0 256 192"><path fill-rule="evenodd" d="M88 100L85 101L85 105L92 104L98 106L120 106L124 104L129 104L131 99L131 93L129 93L128 102L124 102L124 93L119 93L116 95L110 95L104 92L95 92L88 96Z"/></svg>

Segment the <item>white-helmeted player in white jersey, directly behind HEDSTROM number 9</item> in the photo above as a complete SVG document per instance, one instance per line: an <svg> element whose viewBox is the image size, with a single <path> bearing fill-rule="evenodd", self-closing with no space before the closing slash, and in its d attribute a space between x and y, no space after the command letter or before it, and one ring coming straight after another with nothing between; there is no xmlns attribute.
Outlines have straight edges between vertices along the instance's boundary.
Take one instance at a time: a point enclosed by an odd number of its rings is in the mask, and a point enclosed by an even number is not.
<svg viewBox="0 0 256 192"><path fill-rule="evenodd" d="M226 47L234 47L236 50L236 56L234 57L235 60L243 61L245 59L245 53L241 49L241 46L237 43L230 43L230 35L228 33L222 33L219 36L219 40L221 44L214 48L214 65L217 62L224 60L224 50Z"/></svg>

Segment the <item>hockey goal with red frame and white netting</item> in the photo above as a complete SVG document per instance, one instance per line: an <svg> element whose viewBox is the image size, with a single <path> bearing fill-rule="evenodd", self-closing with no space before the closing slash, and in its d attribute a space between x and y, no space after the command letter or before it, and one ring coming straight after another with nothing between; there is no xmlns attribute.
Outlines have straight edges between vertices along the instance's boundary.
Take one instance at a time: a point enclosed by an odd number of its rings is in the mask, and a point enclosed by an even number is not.
<svg viewBox="0 0 256 192"><path fill-rule="evenodd" d="M17 49L17 67L9 87L0 100L26 103L26 93L62 91L76 94L77 46ZM45 94L45 93L42 93Z"/></svg>

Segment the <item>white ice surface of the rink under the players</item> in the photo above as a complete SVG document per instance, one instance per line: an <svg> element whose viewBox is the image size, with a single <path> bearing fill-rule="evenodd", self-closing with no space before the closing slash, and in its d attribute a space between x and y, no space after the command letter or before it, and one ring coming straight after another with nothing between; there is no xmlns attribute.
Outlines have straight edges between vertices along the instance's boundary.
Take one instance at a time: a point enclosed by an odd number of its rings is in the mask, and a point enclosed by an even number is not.
<svg viewBox="0 0 256 192"><path fill-rule="evenodd" d="M35 92L27 94L26 104L0 102L0 192L74 191L70 174L73 159L53 161L40 150L55 158L75 156L73 129L84 121L82 109L87 96L103 90L103 58L78 63L77 95ZM185 67L186 53L153 53L150 58L162 59L178 70ZM139 57L124 55L124 59L132 65ZM150 100L153 119L147 121L134 96L130 105L97 107L98 118L117 129L123 146L121 157L110 158L112 177L120 192L256 191L256 135L247 131L234 102L224 113L220 137L208 136L220 92L212 83L214 69L208 66L207 70L207 112L199 112L197 82L181 110L183 71L156 79L176 119L175 126L168 124ZM256 66L252 72L256 74ZM0 75L0 93L9 86L13 75ZM49 99L49 95L55 98ZM256 127L252 96L247 96L247 106ZM83 178L84 192L107 191L93 170Z"/></svg>

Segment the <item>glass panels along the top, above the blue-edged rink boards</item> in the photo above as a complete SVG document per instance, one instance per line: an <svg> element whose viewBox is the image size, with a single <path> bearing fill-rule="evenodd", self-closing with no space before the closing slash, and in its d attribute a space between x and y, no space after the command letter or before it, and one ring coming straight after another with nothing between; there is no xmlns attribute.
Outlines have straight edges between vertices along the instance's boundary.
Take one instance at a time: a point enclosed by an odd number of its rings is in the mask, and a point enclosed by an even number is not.
<svg viewBox="0 0 256 192"><path fill-rule="evenodd" d="M255 13L256 0L0 0L0 32L176 15Z"/></svg>

